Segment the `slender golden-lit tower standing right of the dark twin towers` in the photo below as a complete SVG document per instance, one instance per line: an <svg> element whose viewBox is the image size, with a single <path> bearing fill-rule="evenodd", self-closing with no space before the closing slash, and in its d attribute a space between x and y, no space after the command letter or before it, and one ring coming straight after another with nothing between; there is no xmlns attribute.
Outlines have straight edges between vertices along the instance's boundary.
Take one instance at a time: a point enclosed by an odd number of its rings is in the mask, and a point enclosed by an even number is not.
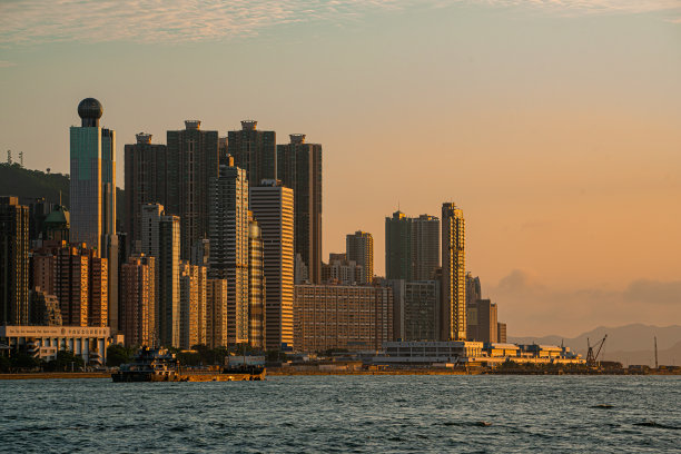
<svg viewBox="0 0 681 454"><path fill-rule="evenodd" d="M466 340L466 269L463 211L442 204L442 340Z"/></svg>

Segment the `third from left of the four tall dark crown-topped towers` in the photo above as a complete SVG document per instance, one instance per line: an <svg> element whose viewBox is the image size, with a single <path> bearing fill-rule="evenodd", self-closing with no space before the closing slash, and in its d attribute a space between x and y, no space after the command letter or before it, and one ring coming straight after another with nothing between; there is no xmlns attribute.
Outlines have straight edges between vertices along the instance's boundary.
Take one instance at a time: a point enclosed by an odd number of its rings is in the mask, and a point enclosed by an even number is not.
<svg viewBox="0 0 681 454"><path fill-rule="evenodd" d="M244 120L241 130L227 132L227 150L236 166L246 170L250 186L277 178L276 134L257 130L257 125L255 120Z"/></svg>

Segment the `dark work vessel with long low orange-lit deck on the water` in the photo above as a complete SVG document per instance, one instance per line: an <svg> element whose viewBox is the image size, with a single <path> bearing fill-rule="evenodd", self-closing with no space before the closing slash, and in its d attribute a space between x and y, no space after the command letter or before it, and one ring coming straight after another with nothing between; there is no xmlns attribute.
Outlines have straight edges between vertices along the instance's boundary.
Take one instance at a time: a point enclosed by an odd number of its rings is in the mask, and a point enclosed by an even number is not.
<svg viewBox="0 0 681 454"><path fill-rule="evenodd" d="M181 367L177 356L166 348L140 348L132 363L111 374L115 383L130 382L239 382L265 379L265 367Z"/></svg>

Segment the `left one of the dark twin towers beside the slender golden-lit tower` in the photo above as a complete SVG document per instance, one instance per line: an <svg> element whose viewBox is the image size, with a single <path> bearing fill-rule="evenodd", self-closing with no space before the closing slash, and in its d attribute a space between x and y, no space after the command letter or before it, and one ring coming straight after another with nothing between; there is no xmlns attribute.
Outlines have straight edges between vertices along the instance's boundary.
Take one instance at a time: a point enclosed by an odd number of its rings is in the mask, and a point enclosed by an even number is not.
<svg viewBox="0 0 681 454"><path fill-rule="evenodd" d="M385 278L413 279L412 219L402 211L385 218Z"/></svg>

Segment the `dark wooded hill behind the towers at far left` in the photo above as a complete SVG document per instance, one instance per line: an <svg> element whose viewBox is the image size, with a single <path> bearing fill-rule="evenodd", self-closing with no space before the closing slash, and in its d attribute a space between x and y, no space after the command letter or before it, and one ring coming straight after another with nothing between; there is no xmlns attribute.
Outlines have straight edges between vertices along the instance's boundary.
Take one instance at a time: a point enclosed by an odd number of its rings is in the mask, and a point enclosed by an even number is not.
<svg viewBox="0 0 681 454"><path fill-rule="evenodd" d="M0 195L17 196L22 204L34 197L45 197L47 201L58 204L61 191L61 205L69 208L69 187L68 175L24 169L18 164L0 164ZM116 188L116 211L118 221L124 225L125 193L120 188Z"/></svg>

